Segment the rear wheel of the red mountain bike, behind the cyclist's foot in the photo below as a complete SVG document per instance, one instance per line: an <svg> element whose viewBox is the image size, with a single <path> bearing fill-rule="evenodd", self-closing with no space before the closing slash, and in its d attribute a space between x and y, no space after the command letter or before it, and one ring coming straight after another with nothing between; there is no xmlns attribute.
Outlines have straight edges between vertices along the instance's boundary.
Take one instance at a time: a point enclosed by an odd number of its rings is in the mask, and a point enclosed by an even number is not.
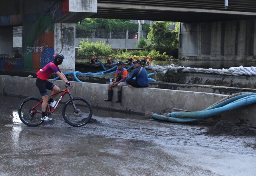
<svg viewBox="0 0 256 176"><path fill-rule="evenodd" d="M42 99L38 97L28 97L24 99L19 107L18 114L20 120L27 126L38 126L42 124L44 121L41 120L42 113L36 113L36 111L41 111L41 104L39 104L36 108L31 109L36 106Z"/></svg>

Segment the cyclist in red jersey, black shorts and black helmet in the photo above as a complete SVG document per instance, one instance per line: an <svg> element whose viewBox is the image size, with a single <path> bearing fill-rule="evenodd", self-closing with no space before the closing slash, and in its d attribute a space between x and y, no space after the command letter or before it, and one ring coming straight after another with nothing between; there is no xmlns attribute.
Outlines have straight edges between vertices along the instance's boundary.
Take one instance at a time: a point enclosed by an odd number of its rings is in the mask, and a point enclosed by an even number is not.
<svg viewBox="0 0 256 176"><path fill-rule="evenodd" d="M43 99L43 103L42 103L42 118L41 120L44 121L50 121L53 120L52 118L49 118L46 115L46 108L47 108L47 103L51 104L51 102L53 101L54 97L56 97L57 95L53 95L54 93L60 92L60 88L58 86L56 86L55 84L51 83L50 81L48 81L48 78L50 77L50 75L55 72L62 81L64 81L68 86L71 86L72 83L69 83L67 81L66 76L60 71L60 68L58 65L62 64L62 61L64 59L64 56L62 53L55 53L53 55L54 59L52 62L48 63L47 65L44 66L44 68L41 68L37 73L37 78L36 78L36 86L40 91L40 94L42 96ZM48 90L52 90L53 93L50 97L50 99L48 100L48 94L47 91Z"/></svg>

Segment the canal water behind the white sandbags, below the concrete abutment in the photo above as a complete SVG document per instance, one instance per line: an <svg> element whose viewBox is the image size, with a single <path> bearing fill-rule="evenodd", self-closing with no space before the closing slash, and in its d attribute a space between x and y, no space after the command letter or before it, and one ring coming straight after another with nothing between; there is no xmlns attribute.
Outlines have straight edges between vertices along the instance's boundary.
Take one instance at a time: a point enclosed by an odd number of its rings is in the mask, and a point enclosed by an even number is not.
<svg viewBox="0 0 256 176"><path fill-rule="evenodd" d="M90 62L89 59L76 59L76 62ZM105 63L105 61L102 61ZM181 60L171 60L171 61L152 61L153 66L184 66L184 67L192 67L192 68L230 68L230 67L250 67L255 66L255 62L253 61L181 61Z"/></svg>

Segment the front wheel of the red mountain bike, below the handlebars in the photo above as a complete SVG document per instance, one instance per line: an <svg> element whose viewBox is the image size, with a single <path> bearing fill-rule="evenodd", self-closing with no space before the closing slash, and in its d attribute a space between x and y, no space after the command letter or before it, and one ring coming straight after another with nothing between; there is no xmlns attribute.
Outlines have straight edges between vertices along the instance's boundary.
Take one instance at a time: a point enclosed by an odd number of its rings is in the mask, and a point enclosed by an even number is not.
<svg viewBox="0 0 256 176"><path fill-rule="evenodd" d="M71 100L68 100L62 109L62 115L67 124L73 127L80 127L87 124L93 115L91 104L82 97L73 98L74 106Z"/></svg>

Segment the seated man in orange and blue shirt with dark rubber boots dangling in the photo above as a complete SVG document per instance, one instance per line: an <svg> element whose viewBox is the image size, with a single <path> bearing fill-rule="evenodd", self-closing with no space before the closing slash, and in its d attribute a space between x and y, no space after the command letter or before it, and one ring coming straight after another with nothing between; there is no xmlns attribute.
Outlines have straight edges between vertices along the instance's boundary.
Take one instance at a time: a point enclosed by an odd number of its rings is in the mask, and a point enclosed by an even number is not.
<svg viewBox="0 0 256 176"><path fill-rule="evenodd" d="M122 61L118 61L117 63L117 69L116 69L116 77L114 79L114 82L109 84L109 90L108 90L108 98L104 101L112 101L112 95L113 95L113 86L117 86L117 100L115 102L121 102L121 95L122 95L122 86L126 86L126 79L129 76L128 71L123 68Z"/></svg>

